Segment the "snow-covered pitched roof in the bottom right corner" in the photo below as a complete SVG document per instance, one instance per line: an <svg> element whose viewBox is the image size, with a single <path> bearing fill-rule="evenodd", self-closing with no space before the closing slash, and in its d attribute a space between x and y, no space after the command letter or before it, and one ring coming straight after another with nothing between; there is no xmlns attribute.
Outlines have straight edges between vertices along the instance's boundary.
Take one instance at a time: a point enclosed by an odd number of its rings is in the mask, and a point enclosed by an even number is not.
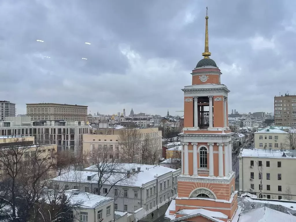
<svg viewBox="0 0 296 222"><path fill-rule="evenodd" d="M268 207L242 211L239 222L285 221L295 222L296 217Z"/></svg>

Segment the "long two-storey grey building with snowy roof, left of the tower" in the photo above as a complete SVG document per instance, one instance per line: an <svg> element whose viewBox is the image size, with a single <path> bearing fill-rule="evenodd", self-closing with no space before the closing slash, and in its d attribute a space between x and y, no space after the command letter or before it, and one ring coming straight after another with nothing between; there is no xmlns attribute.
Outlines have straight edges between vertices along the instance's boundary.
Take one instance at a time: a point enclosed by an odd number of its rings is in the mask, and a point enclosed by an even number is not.
<svg viewBox="0 0 296 222"><path fill-rule="evenodd" d="M115 210L133 213L143 207L146 216L177 196L177 177L180 173L181 169L160 165L122 163L120 170L108 180L114 181L121 174L130 176L112 187L111 184L104 184L101 194L115 198ZM52 181L59 187L93 192L98 189L98 171L95 166L90 166L82 171L70 171Z"/></svg>

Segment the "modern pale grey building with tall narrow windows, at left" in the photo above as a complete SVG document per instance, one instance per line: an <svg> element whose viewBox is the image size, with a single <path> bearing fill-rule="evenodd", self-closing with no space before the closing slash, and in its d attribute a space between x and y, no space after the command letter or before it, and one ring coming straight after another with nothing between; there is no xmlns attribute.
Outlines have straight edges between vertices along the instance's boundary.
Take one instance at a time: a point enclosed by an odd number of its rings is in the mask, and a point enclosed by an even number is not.
<svg viewBox="0 0 296 222"><path fill-rule="evenodd" d="M21 117L27 118L27 117ZM57 151L77 152L82 146L83 134L89 126L83 121L30 121L0 122L0 136L33 136L35 143L57 144Z"/></svg>

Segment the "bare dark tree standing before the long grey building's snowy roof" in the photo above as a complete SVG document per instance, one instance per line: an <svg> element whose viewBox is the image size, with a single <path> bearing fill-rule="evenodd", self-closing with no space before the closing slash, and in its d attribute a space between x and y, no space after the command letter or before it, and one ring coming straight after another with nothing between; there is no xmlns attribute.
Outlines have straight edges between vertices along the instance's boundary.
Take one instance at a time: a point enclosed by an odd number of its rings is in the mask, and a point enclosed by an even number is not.
<svg viewBox="0 0 296 222"><path fill-rule="evenodd" d="M126 173L117 173L122 171L119 154L114 152L110 147L92 149L90 154L91 163L97 170L97 189L92 191L94 194L101 195L101 189L104 184L110 185L109 190L104 194L106 196L110 190L120 181L129 178L131 175Z"/></svg>

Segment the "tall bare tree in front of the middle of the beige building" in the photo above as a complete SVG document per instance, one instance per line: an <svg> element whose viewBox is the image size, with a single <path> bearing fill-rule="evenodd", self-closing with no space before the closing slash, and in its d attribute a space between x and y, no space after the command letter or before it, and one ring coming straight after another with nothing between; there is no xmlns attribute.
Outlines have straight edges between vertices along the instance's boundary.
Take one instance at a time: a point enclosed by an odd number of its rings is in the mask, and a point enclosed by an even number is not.
<svg viewBox="0 0 296 222"><path fill-rule="evenodd" d="M120 131L118 145L120 158L123 163L136 162L136 154L139 151L140 131L137 128L127 128Z"/></svg>

